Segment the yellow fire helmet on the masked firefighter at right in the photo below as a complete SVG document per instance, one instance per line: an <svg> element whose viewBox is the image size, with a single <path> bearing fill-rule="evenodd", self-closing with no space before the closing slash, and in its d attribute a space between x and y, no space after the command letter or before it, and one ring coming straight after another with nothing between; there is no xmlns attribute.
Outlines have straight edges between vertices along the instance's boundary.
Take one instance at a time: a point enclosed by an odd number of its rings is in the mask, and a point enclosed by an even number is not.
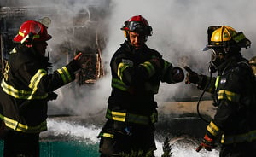
<svg viewBox="0 0 256 157"><path fill-rule="evenodd" d="M231 47L238 46L246 48L251 45L243 32L236 32L236 30L230 26L209 26L208 30L208 44L203 50L218 47Z"/></svg>

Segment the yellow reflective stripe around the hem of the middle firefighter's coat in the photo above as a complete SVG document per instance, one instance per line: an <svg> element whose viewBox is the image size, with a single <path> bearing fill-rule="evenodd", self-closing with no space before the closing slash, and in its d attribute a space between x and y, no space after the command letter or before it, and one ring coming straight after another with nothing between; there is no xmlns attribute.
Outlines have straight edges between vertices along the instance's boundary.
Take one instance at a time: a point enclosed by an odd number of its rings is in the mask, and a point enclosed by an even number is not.
<svg viewBox="0 0 256 157"><path fill-rule="evenodd" d="M148 125L149 123L155 123L157 121L157 113L152 113L150 117L133 114L133 113L123 113L115 112L110 109L107 110L106 118L113 119L121 122L131 122L137 124Z"/></svg>

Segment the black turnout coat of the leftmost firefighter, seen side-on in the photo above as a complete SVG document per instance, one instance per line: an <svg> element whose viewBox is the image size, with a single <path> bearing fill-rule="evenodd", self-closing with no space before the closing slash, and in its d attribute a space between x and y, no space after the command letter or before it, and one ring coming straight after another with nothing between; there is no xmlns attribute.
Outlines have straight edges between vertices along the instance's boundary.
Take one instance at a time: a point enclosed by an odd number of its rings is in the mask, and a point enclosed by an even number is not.
<svg viewBox="0 0 256 157"><path fill-rule="evenodd" d="M48 58L33 49L17 46L9 54L0 90L0 119L14 131L46 131L47 102L52 91L74 80L76 61L48 73Z"/></svg>

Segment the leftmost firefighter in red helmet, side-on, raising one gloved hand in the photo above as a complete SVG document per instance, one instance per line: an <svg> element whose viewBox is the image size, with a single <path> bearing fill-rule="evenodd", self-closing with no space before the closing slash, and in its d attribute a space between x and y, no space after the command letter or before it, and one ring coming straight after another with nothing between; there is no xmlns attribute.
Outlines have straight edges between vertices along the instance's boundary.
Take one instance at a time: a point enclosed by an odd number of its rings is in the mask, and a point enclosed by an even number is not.
<svg viewBox="0 0 256 157"><path fill-rule="evenodd" d="M81 67L81 54L65 67L49 74L49 58L44 56L51 36L46 26L35 20L21 24L13 38L0 90L0 128L3 156L39 156L39 133L47 130L47 102L53 92L74 80Z"/></svg>

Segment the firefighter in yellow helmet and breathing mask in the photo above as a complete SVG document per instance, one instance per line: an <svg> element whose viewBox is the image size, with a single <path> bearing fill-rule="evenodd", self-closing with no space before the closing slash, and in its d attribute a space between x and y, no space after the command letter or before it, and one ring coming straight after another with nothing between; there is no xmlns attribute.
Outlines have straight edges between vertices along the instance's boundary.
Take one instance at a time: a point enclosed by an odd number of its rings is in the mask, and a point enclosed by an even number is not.
<svg viewBox="0 0 256 157"><path fill-rule="evenodd" d="M256 102L253 70L241 55L241 48L251 45L243 32L230 26L209 26L208 43L204 50L212 50L209 64L217 77L198 74L186 67L186 84L196 84L198 89L212 93L217 106L206 134L196 149L211 151L220 140L220 157L256 156Z"/></svg>

